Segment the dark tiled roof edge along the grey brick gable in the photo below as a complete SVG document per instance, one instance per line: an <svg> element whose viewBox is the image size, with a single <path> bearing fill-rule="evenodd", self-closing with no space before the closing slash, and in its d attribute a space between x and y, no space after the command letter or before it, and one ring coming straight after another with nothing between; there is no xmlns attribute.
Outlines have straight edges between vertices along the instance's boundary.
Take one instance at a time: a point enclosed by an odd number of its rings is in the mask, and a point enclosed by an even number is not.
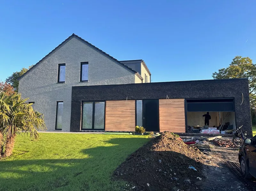
<svg viewBox="0 0 256 191"><path fill-rule="evenodd" d="M109 57L110 59L112 59L113 61L119 63L120 65L124 66L127 70L131 70L133 73L135 73L141 80L143 79L143 77L141 77L141 75L139 74L139 72L133 70L132 68L126 66L124 63L118 61L116 58L114 58L113 56L110 56L109 54L107 54L106 52L100 50L100 48L95 47L94 45L92 45L90 42L82 39L81 37L77 36L76 34L72 34L71 36L69 36L66 40L64 40L63 42L61 42L59 44L59 46L57 46L56 48L54 48L48 55L44 56L44 58L42 58L39 62L37 62L33 67L31 67L27 72L25 72L22 76L20 76L18 78L18 80L20 80L20 78L22 78L23 76L25 76L31 69L33 69L36 65L38 65L40 62L42 62L45 58L47 58L48 56L50 56L52 53L54 53L56 50L58 50L60 47L62 47L64 44L66 44L70 39L72 38L76 38L82 42L84 42L85 44L89 45L90 47L94 48L95 50L97 50L98 52L100 52L101 54Z"/></svg>

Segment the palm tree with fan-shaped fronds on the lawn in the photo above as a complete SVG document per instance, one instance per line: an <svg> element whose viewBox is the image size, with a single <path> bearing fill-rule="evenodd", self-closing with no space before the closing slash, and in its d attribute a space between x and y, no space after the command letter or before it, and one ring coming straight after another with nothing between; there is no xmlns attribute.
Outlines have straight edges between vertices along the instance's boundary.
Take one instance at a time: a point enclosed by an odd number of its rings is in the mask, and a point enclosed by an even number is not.
<svg viewBox="0 0 256 191"><path fill-rule="evenodd" d="M46 130L43 114L34 111L27 100L19 93L0 92L0 158L12 154L16 135L29 134L37 139L37 130Z"/></svg>

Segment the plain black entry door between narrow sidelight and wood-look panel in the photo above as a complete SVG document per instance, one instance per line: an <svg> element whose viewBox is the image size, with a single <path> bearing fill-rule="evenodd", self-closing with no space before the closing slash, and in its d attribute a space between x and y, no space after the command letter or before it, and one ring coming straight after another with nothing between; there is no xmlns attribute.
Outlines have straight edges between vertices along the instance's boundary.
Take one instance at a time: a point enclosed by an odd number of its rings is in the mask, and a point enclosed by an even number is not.
<svg viewBox="0 0 256 191"><path fill-rule="evenodd" d="M146 131L159 131L159 100L143 100L143 126Z"/></svg>

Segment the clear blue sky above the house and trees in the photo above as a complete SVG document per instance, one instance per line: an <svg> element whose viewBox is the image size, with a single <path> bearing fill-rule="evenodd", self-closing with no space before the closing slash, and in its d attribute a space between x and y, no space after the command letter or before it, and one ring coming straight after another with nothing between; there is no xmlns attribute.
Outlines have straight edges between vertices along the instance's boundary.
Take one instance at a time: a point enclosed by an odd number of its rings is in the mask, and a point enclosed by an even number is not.
<svg viewBox="0 0 256 191"><path fill-rule="evenodd" d="M72 33L117 60L143 59L152 81L211 79L236 55L256 62L256 1L2 1L0 80Z"/></svg>

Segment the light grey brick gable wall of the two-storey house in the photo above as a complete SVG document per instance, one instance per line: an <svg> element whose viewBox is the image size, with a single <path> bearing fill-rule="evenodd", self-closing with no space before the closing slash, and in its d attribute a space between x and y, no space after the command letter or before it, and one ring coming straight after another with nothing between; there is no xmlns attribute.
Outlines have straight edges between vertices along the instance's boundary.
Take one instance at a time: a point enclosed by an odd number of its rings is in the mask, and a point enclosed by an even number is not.
<svg viewBox="0 0 256 191"><path fill-rule="evenodd" d="M88 82L80 82L81 62L89 62ZM66 64L65 83L57 83L61 63ZM69 131L72 86L131 84L136 77L132 71L72 37L20 79L19 92L23 98L35 102L35 109L44 114L48 130L55 129L56 104L63 101L62 131Z"/></svg>

